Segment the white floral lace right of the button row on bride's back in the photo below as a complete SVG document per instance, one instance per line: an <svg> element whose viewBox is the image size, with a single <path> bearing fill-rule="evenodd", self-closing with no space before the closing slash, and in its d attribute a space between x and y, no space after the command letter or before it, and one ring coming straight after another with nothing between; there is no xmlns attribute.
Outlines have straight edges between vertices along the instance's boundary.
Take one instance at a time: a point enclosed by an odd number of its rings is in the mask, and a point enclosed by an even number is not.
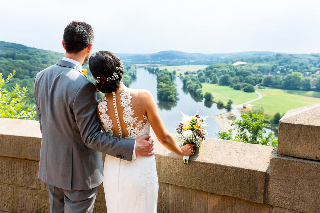
<svg viewBox="0 0 320 213"><path fill-rule="evenodd" d="M138 121L138 117L133 117L134 110L132 110L132 103L130 93L127 92L126 89L120 95L121 106L124 108L123 110L123 120L124 123L127 124L128 136L125 138L128 139L137 139L143 134L148 134L150 132L149 120L146 116L143 115L143 118L146 119L146 123L143 120ZM147 128L145 128L147 127Z"/></svg>

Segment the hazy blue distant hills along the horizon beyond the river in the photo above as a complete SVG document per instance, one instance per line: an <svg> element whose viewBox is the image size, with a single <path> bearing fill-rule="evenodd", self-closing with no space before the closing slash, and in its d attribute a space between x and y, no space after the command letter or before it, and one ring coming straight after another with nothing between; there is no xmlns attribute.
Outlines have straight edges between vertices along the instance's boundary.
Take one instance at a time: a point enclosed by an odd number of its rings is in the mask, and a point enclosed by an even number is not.
<svg viewBox="0 0 320 213"><path fill-rule="evenodd" d="M150 54L127 54L117 53L122 60L136 64L164 64L164 65L212 65L222 63L228 59L245 58L254 56L274 56L276 52L237 52L237 53L185 53L180 51L161 51Z"/></svg>

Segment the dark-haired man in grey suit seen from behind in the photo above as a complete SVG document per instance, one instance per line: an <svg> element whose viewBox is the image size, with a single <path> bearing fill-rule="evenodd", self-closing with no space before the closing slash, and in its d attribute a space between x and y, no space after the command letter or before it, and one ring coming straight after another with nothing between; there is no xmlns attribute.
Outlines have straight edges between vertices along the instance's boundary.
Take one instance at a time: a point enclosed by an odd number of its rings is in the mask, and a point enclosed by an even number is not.
<svg viewBox="0 0 320 213"><path fill-rule="evenodd" d="M48 184L50 212L93 211L103 178L101 152L128 161L153 155L150 136L134 141L101 132L95 86L82 73L93 37L87 23L69 23L62 40L65 57L34 81L42 132L38 177Z"/></svg>

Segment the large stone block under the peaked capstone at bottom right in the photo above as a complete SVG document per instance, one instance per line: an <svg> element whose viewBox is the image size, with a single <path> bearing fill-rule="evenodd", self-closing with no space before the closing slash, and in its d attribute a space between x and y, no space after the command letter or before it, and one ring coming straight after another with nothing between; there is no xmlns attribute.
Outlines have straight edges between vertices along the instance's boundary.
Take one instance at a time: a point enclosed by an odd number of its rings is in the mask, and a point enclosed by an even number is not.
<svg viewBox="0 0 320 213"><path fill-rule="evenodd" d="M320 162L277 155L270 159L266 202L284 209L320 212Z"/></svg>

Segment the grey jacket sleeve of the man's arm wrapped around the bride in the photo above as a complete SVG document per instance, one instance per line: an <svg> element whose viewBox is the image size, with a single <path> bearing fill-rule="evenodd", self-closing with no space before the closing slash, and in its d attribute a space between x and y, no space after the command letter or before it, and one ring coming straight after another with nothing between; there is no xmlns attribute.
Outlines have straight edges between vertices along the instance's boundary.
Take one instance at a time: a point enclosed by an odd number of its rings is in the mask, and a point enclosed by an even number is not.
<svg viewBox="0 0 320 213"><path fill-rule="evenodd" d="M80 87L73 103L76 125L85 145L111 156L120 154L124 156L124 160L131 161L135 141L102 133L96 108L97 94L94 84L87 82Z"/></svg>

